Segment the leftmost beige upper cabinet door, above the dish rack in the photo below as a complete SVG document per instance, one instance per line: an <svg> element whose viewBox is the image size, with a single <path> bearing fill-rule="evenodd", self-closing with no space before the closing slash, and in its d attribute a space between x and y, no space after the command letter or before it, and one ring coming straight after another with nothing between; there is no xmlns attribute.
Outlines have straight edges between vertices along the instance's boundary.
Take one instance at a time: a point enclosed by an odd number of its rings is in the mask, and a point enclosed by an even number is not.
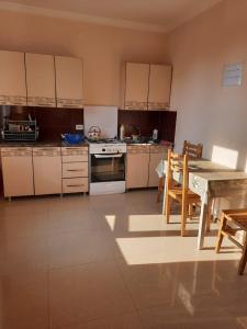
<svg viewBox="0 0 247 329"><path fill-rule="evenodd" d="M0 50L0 105L26 105L24 53Z"/></svg>

